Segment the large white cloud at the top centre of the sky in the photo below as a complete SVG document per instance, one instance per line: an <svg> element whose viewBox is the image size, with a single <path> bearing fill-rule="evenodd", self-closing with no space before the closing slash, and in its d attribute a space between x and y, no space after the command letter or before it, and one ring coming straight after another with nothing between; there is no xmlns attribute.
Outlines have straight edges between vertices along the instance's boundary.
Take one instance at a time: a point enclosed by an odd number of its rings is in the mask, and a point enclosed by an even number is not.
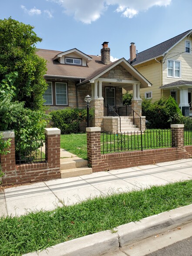
<svg viewBox="0 0 192 256"><path fill-rule="evenodd" d="M115 11L123 17L132 18L141 11L146 11L153 6L168 6L172 0L49 0L60 4L64 13L73 15L75 20L85 24L98 20L107 10L114 5Z"/></svg>

